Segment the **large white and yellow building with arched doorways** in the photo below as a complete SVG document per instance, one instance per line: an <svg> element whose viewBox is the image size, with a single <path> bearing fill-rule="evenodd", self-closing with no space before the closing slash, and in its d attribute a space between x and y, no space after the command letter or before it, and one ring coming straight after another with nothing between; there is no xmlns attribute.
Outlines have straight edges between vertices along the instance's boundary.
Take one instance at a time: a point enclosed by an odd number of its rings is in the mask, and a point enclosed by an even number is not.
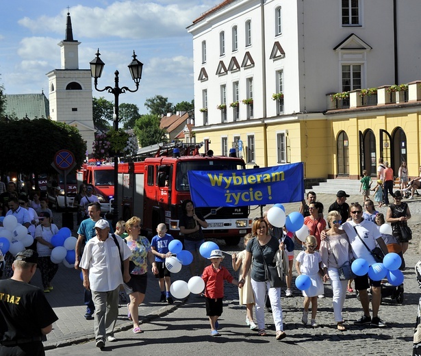
<svg viewBox="0 0 421 356"><path fill-rule="evenodd" d="M307 179L374 175L379 157L418 173L419 98L387 90L419 77L420 15L416 0L216 5L188 27L196 142L253 166L304 162Z"/></svg>

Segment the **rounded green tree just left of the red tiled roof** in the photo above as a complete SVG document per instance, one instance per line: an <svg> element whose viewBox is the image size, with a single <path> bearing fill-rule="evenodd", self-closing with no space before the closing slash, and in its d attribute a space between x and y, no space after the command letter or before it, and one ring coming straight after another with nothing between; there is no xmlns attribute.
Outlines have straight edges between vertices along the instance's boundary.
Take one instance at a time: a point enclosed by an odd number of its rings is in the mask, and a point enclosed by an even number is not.
<svg viewBox="0 0 421 356"><path fill-rule="evenodd" d="M142 115L136 120L134 132L141 147L166 141L166 131L160 128L160 117L157 115Z"/></svg>

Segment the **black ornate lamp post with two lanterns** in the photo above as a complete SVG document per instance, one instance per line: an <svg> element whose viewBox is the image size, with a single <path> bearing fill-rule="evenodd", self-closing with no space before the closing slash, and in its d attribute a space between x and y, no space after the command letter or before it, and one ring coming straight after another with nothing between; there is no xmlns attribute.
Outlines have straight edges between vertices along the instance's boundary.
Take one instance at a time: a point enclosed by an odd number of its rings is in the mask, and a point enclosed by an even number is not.
<svg viewBox="0 0 421 356"><path fill-rule="evenodd" d="M139 62L138 60L136 60L136 53L134 53L133 51L133 60L131 61L131 63L128 65L129 67L129 71L131 74L131 79L133 79L135 85L136 85L136 89L135 90L131 90L129 88L127 88L127 86L123 86L120 88L120 86L118 86L118 75L120 73L118 73L118 71L114 72L114 88L112 86L106 86L103 89L98 89L97 88L97 84L98 84L98 78L101 77L103 68L105 66L105 63L101 60L101 58L99 58L99 55L101 53L99 53L99 49L96 53L97 58L94 58L91 62L90 62L90 75L94 78L94 87L95 90L97 90L98 92L104 92L105 90L107 90L108 92L110 92L111 94L114 94L114 115L113 115L113 120L114 120L114 129L116 131L118 131L118 121L120 120L120 118L118 117L118 97L120 94L125 93L126 91L128 92L137 92L139 89L139 82L140 79L142 78L142 67L143 64L141 62ZM114 153L114 201L112 204L113 207L113 224L115 225L116 222L118 221L118 153L115 152Z"/></svg>

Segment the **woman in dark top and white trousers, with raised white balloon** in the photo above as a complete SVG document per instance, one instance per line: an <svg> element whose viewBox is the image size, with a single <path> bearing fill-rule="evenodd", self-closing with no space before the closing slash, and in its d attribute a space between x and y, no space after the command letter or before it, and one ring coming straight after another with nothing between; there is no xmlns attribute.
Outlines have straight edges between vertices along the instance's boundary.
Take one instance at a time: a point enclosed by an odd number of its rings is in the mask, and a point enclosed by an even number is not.
<svg viewBox="0 0 421 356"><path fill-rule="evenodd" d="M283 212L282 209L275 209L276 212ZM283 227L285 225L285 213L280 213L278 218L272 219L272 214L268 213L268 220L272 225ZM299 213L298 213L299 214ZM300 214L301 215L301 214ZM302 216L301 216L302 217ZM283 220L283 221L281 221ZM265 264L273 266L273 259L278 250L285 249L283 242L279 243L278 239L270 236L268 233L268 224L264 218L254 221L252 232L255 238L248 241L246 246L246 258L243 262L242 276L248 274L251 266L251 286L255 294L255 314L257 319L257 327L259 327L259 336L266 336L264 306L266 292L270 299L272 308L272 317L275 322L276 338L282 340L286 337L283 331L282 307L281 307L281 288L271 288L270 282L266 277ZM252 261L253 259L253 261Z"/></svg>

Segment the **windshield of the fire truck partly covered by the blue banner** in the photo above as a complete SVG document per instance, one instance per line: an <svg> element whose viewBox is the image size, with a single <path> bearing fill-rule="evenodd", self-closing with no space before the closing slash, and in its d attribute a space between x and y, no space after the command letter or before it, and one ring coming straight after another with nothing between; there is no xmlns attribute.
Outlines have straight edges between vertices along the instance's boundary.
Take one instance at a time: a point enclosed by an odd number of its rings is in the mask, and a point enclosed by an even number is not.
<svg viewBox="0 0 421 356"><path fill-rule="evenodd" d="M179 164L177 164L177 177L175 181L175 188L181 192L190 191L187 176L189 170L210 171L235 169L244 169L244 166L241 162L235 162L233 160L202 160L179 162Z"/></svg>

